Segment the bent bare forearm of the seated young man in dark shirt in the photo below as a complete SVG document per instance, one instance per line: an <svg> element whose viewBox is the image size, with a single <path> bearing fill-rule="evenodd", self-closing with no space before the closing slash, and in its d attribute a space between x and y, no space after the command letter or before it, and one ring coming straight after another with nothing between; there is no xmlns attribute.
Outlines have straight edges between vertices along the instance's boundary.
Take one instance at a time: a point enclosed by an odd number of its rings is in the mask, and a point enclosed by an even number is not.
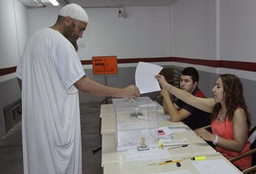
<svg viewBox="0 0 256 174"><path fill-rule="evenodd" d="M171 118L172 122L180 122L181 120L184 120L185 118L189 117L191 113L187 111L186 109L177 109L177 106L173 104L171 101L171 98L169 97L169 93L166 89L162 89L161 94L163 96L163 107L164 112L166 110L168 111L168 114ZM167 113L166 113L167 114Z"/></svg>

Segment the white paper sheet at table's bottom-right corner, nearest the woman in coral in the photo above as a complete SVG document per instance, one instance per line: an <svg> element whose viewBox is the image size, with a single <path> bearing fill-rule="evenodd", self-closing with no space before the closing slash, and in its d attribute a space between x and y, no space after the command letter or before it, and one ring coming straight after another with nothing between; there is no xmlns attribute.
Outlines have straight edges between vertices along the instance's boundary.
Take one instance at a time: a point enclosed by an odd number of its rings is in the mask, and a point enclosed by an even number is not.
<svg viewBox="0 0 256 174"><path fill-rule="evenodd" d="M202 174L204 173L207 173L207 174L239 173L223 159L195 161L193 162L193 165Z"/></svg>

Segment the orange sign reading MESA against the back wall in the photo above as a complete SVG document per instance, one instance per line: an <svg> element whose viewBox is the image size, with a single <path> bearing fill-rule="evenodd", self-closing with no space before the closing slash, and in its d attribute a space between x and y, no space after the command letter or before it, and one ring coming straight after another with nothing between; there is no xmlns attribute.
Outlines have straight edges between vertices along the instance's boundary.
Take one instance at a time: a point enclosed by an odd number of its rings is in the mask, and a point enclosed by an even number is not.
<svg viewBox="0 0 256 174"><path fill-rule="evenodd" d="M93 74L117 74L116 56L92 57Z"/></svg>

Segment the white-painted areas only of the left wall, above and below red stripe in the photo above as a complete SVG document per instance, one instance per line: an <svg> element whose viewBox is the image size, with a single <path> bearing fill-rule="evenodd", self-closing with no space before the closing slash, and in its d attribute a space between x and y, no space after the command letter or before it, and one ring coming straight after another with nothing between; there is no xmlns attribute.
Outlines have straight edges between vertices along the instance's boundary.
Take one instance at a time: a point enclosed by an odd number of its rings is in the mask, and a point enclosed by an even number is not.
<svg viewBox="0 0 256 174"><path fill-rule="evenodd" d="M28 38L27 8L17 0L0 1L0 22L0 68L15 67ZM14 77L3 75L0 82Z"/></svg>

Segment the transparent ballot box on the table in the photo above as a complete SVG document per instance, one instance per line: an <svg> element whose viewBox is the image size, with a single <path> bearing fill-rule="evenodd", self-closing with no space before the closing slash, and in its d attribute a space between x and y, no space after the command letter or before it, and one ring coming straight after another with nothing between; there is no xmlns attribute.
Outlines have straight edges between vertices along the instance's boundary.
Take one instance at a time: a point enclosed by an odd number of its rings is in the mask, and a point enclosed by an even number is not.
<svg viewBox="0 0 256 174"><path fill-rule="evenodd" d="M117 151L142 146L158 147L158 106L149 97L138 99L113 99L116 114Z"/></svg>

